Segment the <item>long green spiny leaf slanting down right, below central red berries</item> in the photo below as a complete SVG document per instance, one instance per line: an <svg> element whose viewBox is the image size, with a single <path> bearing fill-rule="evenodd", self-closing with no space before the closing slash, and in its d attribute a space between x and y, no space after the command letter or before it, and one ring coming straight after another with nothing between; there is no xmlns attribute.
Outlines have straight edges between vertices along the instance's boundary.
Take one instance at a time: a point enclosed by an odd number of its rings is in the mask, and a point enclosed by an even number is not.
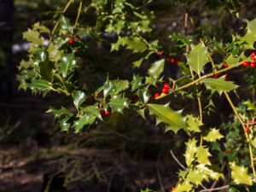
<svg viewBox="0 0 256 192"><path fill-rule="evenodd" d="M173 111L166 105L148 104L150 114L156 116L156 124L161 122L166 124L166 131L172 130L177 133L178 130L186 126L185 118L181 115L181 111Z"/></svg>

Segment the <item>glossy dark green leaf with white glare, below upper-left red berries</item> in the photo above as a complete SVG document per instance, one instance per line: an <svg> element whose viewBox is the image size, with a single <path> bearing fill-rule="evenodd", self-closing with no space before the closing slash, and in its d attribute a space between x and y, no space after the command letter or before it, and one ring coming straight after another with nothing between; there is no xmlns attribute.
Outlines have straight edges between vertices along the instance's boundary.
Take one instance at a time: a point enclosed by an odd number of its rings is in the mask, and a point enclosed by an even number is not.
<svg viewBox="0 0 256 192"><path fill-rule="evenodd" d="M68 74L72 72L74 67L76 67L76 61L73 53L64 55L61 58L60 72L62 73L63 78L67 78Z"/></svg>

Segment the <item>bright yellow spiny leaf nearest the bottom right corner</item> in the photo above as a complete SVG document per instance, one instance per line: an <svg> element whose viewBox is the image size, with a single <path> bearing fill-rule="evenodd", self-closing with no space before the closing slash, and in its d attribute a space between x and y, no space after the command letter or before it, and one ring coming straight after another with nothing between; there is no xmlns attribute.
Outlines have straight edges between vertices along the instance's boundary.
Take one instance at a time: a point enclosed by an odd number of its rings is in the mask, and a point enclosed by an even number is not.
<svg viewBox="0 0 256 192"><path fill-rule="evenodd" d="M252 177L247 173L244 166L236 166L235 162L230 163L231 177L236 184L252 185Z"/></svg>

